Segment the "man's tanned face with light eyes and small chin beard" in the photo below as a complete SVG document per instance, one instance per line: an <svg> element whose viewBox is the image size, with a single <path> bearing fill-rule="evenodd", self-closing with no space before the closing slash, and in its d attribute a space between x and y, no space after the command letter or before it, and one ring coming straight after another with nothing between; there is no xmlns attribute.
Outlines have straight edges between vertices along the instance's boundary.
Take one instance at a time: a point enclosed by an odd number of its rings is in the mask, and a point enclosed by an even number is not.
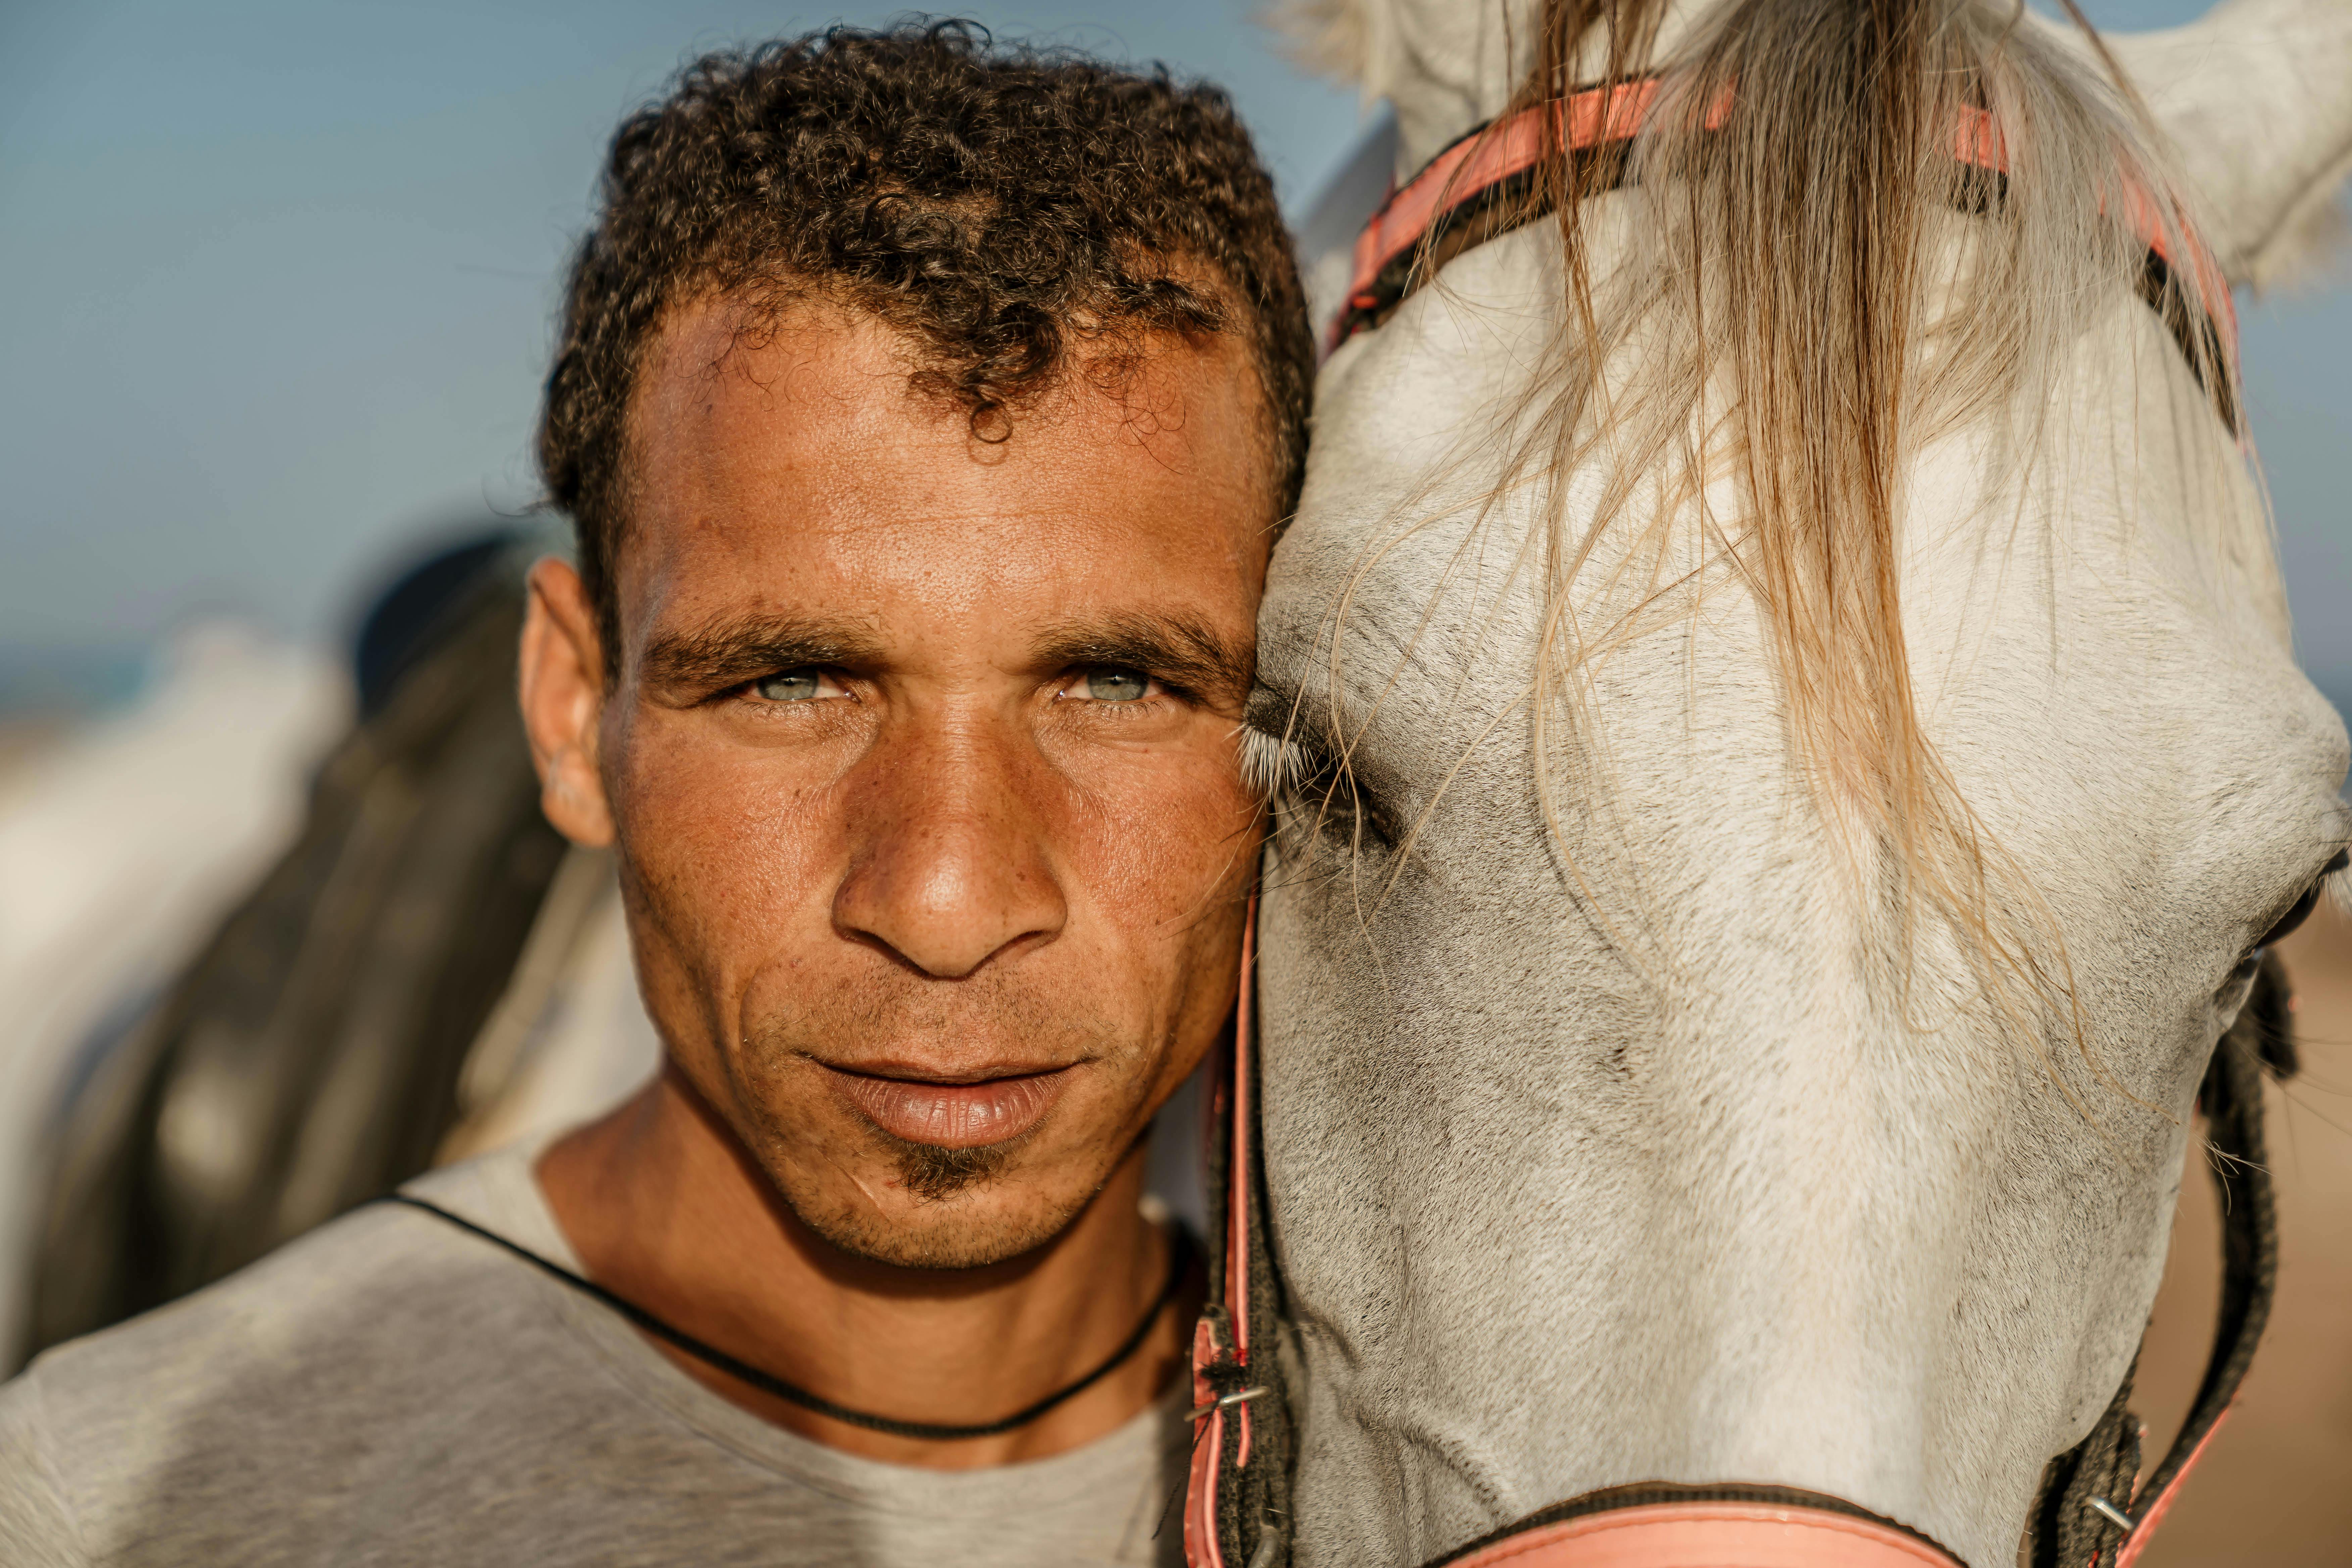
<svg viewBox="0 0 2352 1568"><path fill-rule="evenodd" d="M1171 346L985 444L868 317L739 327L682 313L633 404L595 771L647 1004L811 1229L1011 1258L1232 1004L1261 395Z"/></svg>

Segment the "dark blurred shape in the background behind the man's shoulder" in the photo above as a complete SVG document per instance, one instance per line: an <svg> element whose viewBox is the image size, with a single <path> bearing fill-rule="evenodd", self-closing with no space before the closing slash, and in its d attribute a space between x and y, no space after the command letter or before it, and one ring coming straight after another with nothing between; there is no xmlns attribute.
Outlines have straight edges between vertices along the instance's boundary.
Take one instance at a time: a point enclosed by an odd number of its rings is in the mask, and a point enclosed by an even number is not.
<svg viewBox="0 0 2352 1568"><path fill-rule="evenodd" d="M301 839L66 1110L28 1354L430 1164L564 851L515 712L524 562L470 541L367 618Z"/></svg>

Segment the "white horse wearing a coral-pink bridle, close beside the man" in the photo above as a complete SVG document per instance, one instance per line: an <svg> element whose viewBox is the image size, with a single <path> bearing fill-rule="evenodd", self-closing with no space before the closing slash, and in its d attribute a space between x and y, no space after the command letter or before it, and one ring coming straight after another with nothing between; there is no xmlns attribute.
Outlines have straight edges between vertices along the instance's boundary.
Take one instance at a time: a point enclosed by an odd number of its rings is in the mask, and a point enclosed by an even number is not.
<svg viewBox="0 0 2352 1568"><path fill-rule="evenodd" d="M2138 101L2009 0L1294 21L1399 179L1663 73L1367 308L1272 562L1294 1561L1661 1479L2009 1563L2352 835L2216 275L2333 209L2352 7L2110 40Z"/></svg>

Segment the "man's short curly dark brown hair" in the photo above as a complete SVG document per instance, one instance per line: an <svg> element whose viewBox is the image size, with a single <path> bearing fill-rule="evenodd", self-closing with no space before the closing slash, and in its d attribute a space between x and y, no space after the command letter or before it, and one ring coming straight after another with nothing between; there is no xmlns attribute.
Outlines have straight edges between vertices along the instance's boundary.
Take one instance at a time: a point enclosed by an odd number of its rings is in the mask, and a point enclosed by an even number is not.
<svg viewBox="0 0 2352 1568"><path fill-rule="evenodd" d="M983 442L1073 348L1115 364L1150 334L1237 331L1277 517L1298 498L1305 299L1223 92L1002 47L967 21L724 49L614 136L548 374L539 465L579 529L607 649L630 390L663 313L701 292L809 292L880 317L917 348L917 390L962 407Z"/></svg>

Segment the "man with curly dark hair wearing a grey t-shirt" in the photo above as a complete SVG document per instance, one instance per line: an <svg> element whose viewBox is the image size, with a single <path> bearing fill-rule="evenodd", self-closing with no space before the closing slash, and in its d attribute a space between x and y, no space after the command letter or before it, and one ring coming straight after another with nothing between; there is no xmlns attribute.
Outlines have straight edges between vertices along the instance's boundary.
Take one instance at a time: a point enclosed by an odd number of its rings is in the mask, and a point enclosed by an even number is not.
<svg viewBox="0 0 2352 1568"><path fill-rule="evenodd" d="M0 1559L1169 1561L1141 1138L1235 994L1308 371L1211 92L837 31L633 118L522 710L666 1067L42 1356Z"/></svg>

